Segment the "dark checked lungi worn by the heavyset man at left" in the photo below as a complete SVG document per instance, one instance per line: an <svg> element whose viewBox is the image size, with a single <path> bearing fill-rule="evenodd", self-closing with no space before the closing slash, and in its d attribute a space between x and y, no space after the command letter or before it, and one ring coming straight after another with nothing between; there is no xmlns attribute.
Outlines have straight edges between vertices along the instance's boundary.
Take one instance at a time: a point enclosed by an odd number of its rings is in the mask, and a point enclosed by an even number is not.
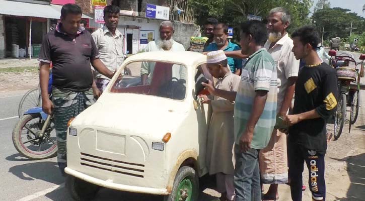
<svg viewBox="0 0 365 201"><path fill-rule="evenodd" d="M71 91L52 87L53 117L57 136L57 162L66 163L66 133L68 121L94 104L93 89Z"/></svg>

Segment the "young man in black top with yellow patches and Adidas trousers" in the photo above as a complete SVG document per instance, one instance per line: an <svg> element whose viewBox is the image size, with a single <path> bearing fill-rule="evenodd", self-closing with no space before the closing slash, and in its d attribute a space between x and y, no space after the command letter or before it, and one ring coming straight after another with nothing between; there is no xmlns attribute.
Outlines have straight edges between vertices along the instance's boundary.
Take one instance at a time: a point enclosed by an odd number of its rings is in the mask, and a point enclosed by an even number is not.
<svg viewBox="0 0 365 201"><path fill-rule="evenodd" d="M313 200L325 200L326 120L337 106L336 71L318 57L316 47L320 38L313 28L302 27L291 38L296 58L306 62L296 82L293 115L285 118L290 126L287 151L291 198L302 200L305 161Z"/></svg>

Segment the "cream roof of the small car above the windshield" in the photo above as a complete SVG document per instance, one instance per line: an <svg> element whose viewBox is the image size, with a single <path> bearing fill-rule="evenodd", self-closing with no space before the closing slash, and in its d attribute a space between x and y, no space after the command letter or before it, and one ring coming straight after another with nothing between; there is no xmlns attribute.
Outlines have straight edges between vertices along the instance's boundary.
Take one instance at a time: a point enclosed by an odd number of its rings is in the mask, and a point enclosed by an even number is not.
<svg viewBox="0 0 365 201"><path fill-rule="evenodd" d="M131 61L164 61L172 63L182 63L186 66L196 66L200 63L206 62L206 55L197 52L183 51L154 51L134 54L125 60L125 63Z"/></svg>

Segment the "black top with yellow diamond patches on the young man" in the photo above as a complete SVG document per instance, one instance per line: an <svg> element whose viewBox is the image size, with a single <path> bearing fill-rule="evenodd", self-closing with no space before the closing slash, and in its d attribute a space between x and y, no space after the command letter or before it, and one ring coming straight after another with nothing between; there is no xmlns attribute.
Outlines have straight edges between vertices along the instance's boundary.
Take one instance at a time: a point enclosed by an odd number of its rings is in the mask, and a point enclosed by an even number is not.
<svg viewBox="0 0 365 201"><path fill-rule="evenodd" d="M336 70L326 63L303 67L298 75L293 114L311 110L321 118L304 120L289 128L289 143L325 154L327 149L326 120L337 106L338 86Z"/></svg>

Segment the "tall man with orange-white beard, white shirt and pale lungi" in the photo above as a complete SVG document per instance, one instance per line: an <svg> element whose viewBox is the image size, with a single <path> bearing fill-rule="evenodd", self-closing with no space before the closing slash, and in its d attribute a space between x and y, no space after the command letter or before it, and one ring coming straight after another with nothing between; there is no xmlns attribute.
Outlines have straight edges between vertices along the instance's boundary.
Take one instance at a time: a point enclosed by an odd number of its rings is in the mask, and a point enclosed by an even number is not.
<svg viewBox="0 0 365 201"><path fill-rule="evenodd" d="M284 8L274 8L267 20L269 38L264 47L274 59L277 70L276 126L279 126L278 118L283 119L286 116L293 99L299 60L291 52L293 40L286 33L286 28L290 24L290 14ZM287 183L288 180L286 134L275 128L269 144L261 150L259 156L261 182L271 184L262 200L276 200L278 184Z"/></svg>

